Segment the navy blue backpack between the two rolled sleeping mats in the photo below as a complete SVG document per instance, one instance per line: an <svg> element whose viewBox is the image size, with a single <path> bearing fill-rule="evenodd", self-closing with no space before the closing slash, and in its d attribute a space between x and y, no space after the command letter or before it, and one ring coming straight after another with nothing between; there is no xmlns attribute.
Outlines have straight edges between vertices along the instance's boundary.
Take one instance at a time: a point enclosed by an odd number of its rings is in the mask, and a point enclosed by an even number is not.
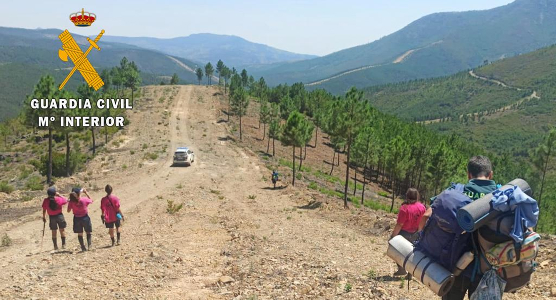
<svg viewBox="0 0 556 300"><path fill-rule="evenodd" d="M461 255L472 249L471 233L464 232L456 218L458 209L472 201L463 194L463 189L463 184L452 184L436 197L431 205L433 213L415 242L416 250L423 251L449 272Z"/></svg>

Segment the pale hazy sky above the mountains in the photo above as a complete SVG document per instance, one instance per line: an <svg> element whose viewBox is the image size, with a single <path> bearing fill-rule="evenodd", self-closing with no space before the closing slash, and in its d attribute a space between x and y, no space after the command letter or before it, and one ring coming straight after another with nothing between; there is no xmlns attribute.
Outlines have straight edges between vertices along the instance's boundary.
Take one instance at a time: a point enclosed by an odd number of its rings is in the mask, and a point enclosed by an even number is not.
<svg viewBox="0 0 556 300"><path fill-rule="evenodd" d="M0 26L63 28L96 35L170 38L192 33L234 34L298 53L325 55L372 42L434 12L502 6L512 0L48 0L4 1ZM68 16L97 14L88 28Z"/></svg>

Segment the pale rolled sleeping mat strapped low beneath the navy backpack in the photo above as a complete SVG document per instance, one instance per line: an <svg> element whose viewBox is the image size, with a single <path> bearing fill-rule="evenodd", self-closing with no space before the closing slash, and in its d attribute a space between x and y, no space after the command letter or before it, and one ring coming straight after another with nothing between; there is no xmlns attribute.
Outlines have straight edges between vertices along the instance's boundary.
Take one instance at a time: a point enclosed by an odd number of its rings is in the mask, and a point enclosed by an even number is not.
<svg viewBox="0 0 556 300"><path fill-rule="evenodd" d="M388 241L386 255L438 296L444 296L454 284L453 274L423 252L414 250L413 244L403 236Z"/></svg>

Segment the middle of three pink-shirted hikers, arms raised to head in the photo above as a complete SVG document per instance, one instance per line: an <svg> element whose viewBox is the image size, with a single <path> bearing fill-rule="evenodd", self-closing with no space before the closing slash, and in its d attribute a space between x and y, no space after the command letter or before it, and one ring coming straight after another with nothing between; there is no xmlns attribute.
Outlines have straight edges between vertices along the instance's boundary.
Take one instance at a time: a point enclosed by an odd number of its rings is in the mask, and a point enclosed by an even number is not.
<svg viewBox="0 0 556 300"><path fill-rule="evenodd" d="M85 193L87 197L81 197L81 192ZM92 247L91 232L93 232L93 226L87 208L91 203L93 203L93 200L85 189L73 188L71 194L69 194L68 212L73 210L73 232L77 233L81 251L91 250ZM87 233L87 248L83 243L83 230Z"/></svg>

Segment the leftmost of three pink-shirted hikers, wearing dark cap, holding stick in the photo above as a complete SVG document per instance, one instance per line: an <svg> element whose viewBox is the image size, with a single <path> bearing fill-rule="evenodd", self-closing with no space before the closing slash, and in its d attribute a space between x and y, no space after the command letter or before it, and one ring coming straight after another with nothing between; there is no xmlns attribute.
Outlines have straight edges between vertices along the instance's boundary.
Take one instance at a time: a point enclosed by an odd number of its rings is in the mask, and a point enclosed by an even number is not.
<svg viewBox="0 0 556 300"><path fill-rule="evenodd" d="M58 250L57 231L60 230L60 237L62 238L62 248L66 248L66 220L62 213L62 206L66 205L68 200L60 196L56 192L56 187L49 187L46 191L48 197L42 201L42 221L46 223L46 213L48 212L48 227L52 231L52 243L54 250Z"/></svg>

